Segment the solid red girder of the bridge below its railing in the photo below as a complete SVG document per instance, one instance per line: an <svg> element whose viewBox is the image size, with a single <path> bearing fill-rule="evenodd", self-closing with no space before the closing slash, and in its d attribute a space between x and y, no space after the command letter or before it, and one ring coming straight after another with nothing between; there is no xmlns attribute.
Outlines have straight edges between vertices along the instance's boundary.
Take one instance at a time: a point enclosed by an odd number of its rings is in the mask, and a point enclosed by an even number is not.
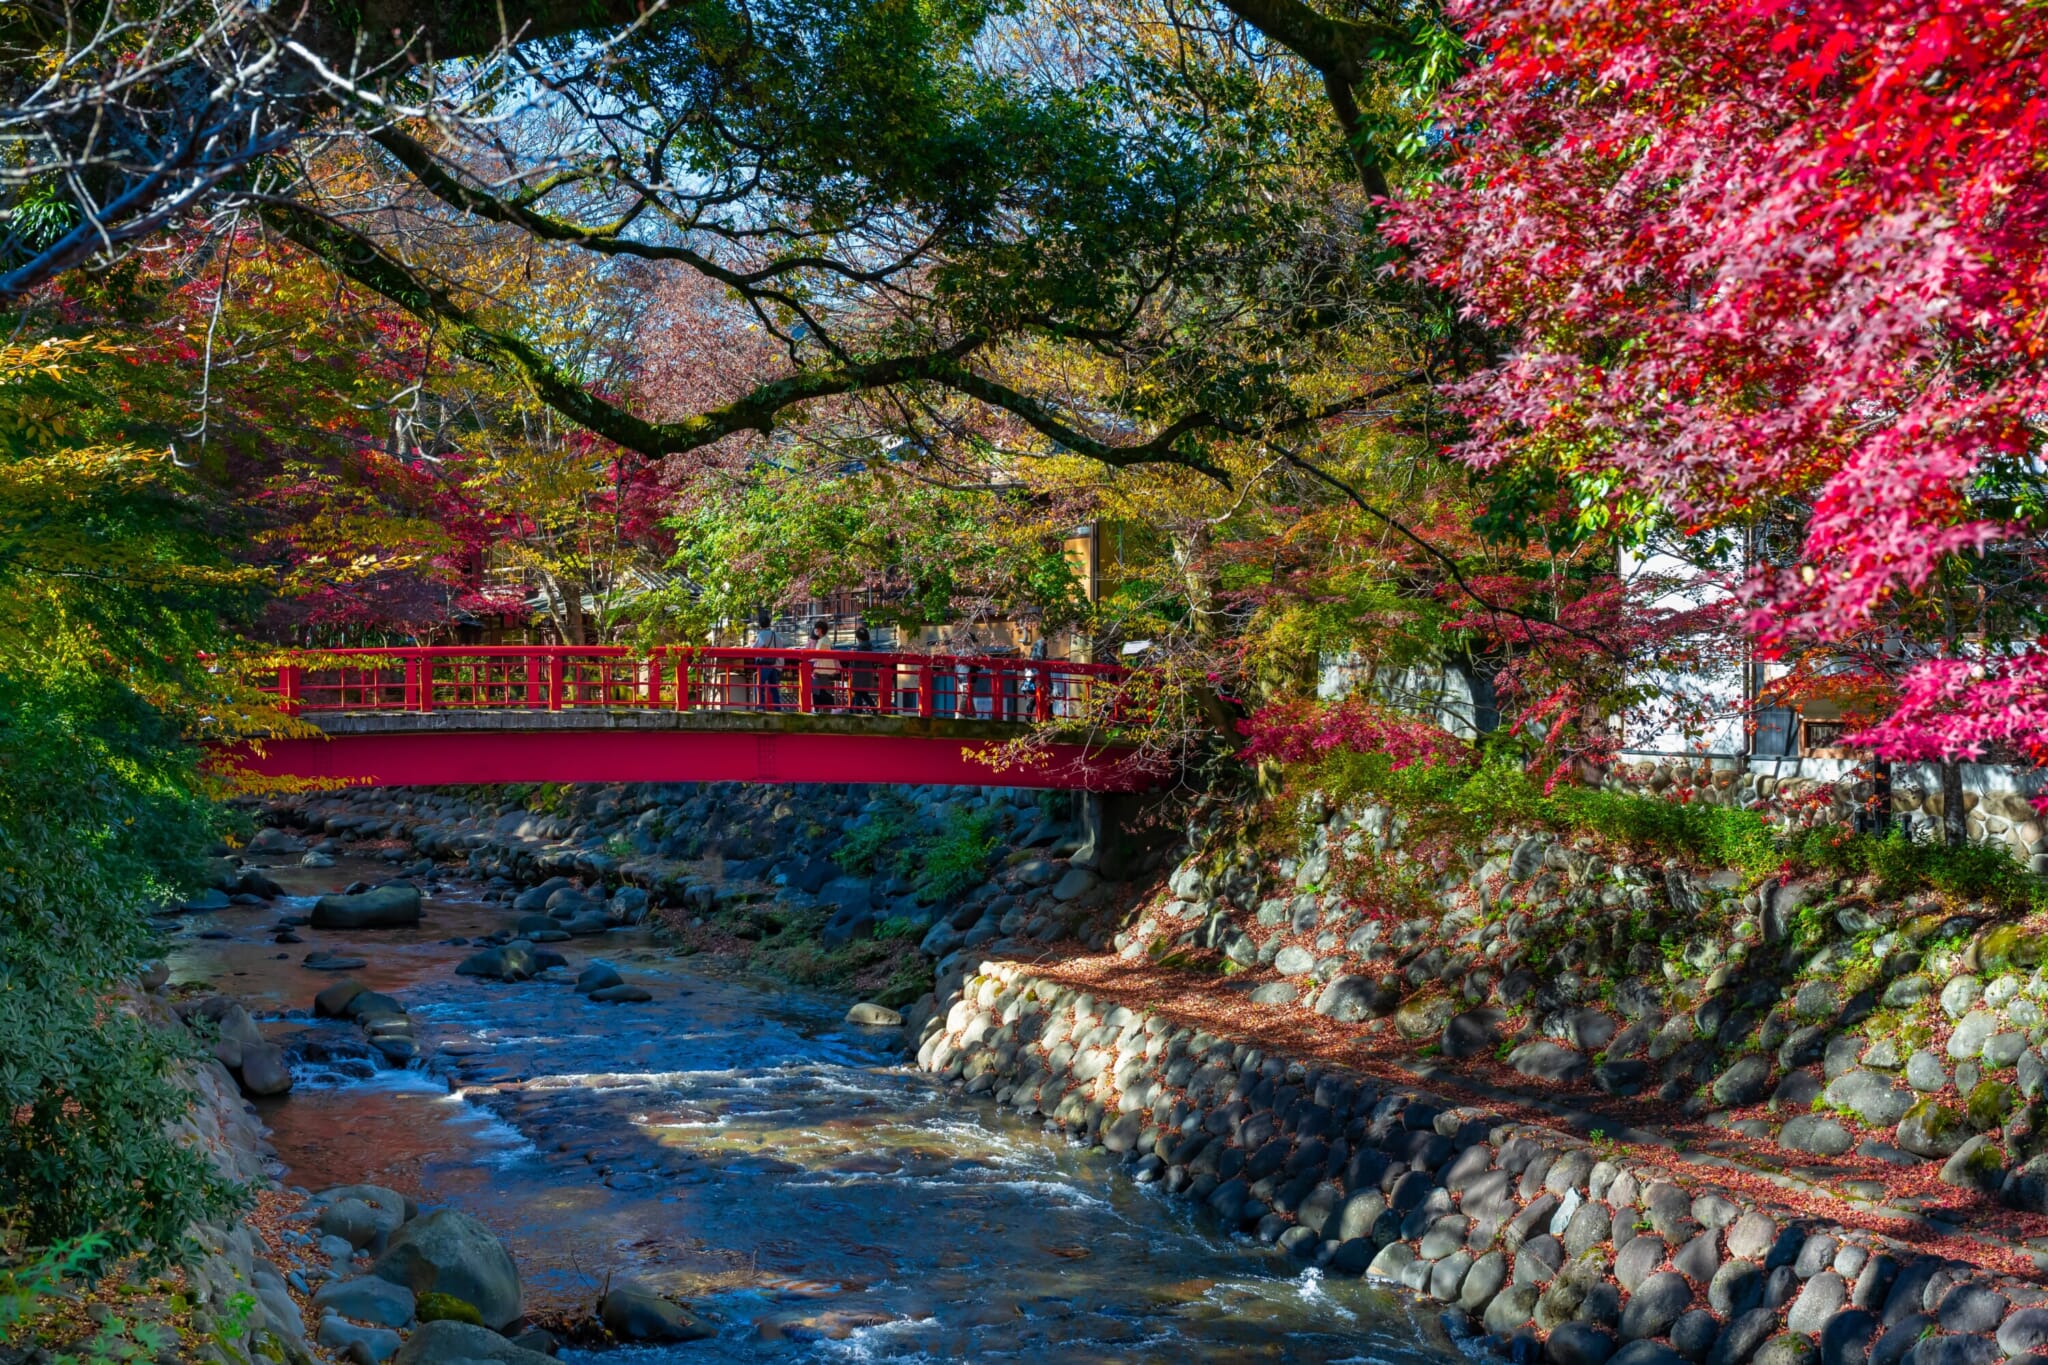
<svg viewBox="0 0 2048 1365"><path fill-rule="evenodd" d="M356 786L496 782L899 782L1130 792L1159 772L1128 749L1006 753L1016 726L975 720L700 712L326 714L326 739L274 739L264 776ZM1010 759L1010 761L1004 761Z"/></svg>

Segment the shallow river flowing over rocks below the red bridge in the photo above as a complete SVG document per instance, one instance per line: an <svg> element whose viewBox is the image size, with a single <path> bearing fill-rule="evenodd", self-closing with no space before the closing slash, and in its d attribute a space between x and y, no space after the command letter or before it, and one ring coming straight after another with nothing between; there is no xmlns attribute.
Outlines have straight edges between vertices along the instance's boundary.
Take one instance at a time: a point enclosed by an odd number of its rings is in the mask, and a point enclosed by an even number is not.
<svg viewBox="0 0 2048 1365"><path fill-rule="evenodd" d="M387 874L270 872L303 894ZM643 931L557 943L569 972L543 980L455 976L473 950L444 939L508 917L453 888L416 929L279 945L276 911L231 909L190 917L172 970L238 995L295 1054L293 1093L262 1103L289 1183L475 1214L528 1308L633 1279L719 1324L565 1361L1458 1357L1427 1310L1223 1236L1102 1156L948 1095L891 1033L844 1025L844 1001L692 970ZM336 980L299 964L315 948L369 960L350 974L408 1007L424 1064L379 1068L354 1025L311 1017ZM653 1003L573 995L590 958Z"/></svg>

